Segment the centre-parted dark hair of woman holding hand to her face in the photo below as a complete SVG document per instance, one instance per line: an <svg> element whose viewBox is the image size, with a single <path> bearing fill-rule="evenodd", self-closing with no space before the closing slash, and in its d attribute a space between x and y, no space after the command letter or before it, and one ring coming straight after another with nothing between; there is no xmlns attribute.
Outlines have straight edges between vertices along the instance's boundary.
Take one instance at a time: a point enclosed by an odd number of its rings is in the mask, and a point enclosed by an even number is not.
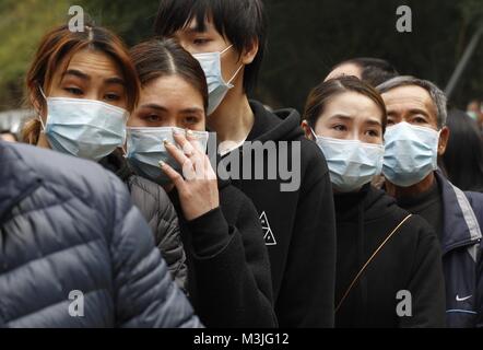
<svg viewBox="0 0 483 350"><path fill-rule="evenodd" d="M152 39L131 49L131 59L142 86L168 75L179 75L202 96L208 108L208 85L204 72L198 62L175 39Z"/></svg>

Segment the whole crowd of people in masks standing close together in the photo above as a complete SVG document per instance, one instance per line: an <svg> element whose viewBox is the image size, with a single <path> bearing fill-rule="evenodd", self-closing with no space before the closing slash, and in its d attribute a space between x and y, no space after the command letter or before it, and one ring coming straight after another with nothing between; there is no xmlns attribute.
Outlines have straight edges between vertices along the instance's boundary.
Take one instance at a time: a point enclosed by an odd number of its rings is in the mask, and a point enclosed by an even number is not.
<svg viewBox="0 0 483 350"><path fill-rule="evenodd" d="M476 121L376 58L271 110L266 42L260 0L162 0L132 48L44 36L0 140L0 326L483 327Z"/></svg>

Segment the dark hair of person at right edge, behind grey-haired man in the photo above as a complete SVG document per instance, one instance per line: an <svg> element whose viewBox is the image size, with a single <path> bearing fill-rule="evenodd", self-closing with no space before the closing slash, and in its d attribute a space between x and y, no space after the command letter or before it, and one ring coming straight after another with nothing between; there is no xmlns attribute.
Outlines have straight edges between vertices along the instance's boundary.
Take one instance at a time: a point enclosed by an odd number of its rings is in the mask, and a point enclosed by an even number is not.
<svg viewBox="0 0 483 350"><path fill-rule="evenodd" d="M483 191L483 137L476 121L453 109L447 126L450 136L443 161L449 179L462 190Z"/></svg>

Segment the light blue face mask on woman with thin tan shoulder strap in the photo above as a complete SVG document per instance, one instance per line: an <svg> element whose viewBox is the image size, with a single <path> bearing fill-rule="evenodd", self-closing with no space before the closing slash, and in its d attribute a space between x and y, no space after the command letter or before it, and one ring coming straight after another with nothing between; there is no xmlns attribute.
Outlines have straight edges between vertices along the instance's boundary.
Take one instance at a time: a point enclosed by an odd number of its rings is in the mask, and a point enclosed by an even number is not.
<svg viewBox="0 0 483 350"><path fill-rule="evenodd" d="M316 136L314 130L313 133L326 156L330 179L337 191L357 191L380 174L382 144L326 138Z"/></svg>

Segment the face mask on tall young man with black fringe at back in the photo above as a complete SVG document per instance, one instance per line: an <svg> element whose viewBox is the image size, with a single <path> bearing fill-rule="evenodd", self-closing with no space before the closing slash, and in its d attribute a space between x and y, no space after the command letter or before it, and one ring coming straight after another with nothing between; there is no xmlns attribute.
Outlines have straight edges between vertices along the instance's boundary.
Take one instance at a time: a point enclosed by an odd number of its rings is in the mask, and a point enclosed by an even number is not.
<svg viewBox="0 0 483 350"><path fill-rule="evenodd" d="M220 104L225 98L226 94L231 89L233 89L232 82L235 80L236 75L239 73L243 65L238 68L238 70L233 74L232 79L228 82L225 82L222 74L222 55L229 50L232 46L228 46L221 52L207 52L207 54L196 54L193 57L200 62L201 68L204 71L204 75L207 77L208 83L208 92L209 92L209 103L208 103L208 112L207 115L213 114Z"/></svg>

